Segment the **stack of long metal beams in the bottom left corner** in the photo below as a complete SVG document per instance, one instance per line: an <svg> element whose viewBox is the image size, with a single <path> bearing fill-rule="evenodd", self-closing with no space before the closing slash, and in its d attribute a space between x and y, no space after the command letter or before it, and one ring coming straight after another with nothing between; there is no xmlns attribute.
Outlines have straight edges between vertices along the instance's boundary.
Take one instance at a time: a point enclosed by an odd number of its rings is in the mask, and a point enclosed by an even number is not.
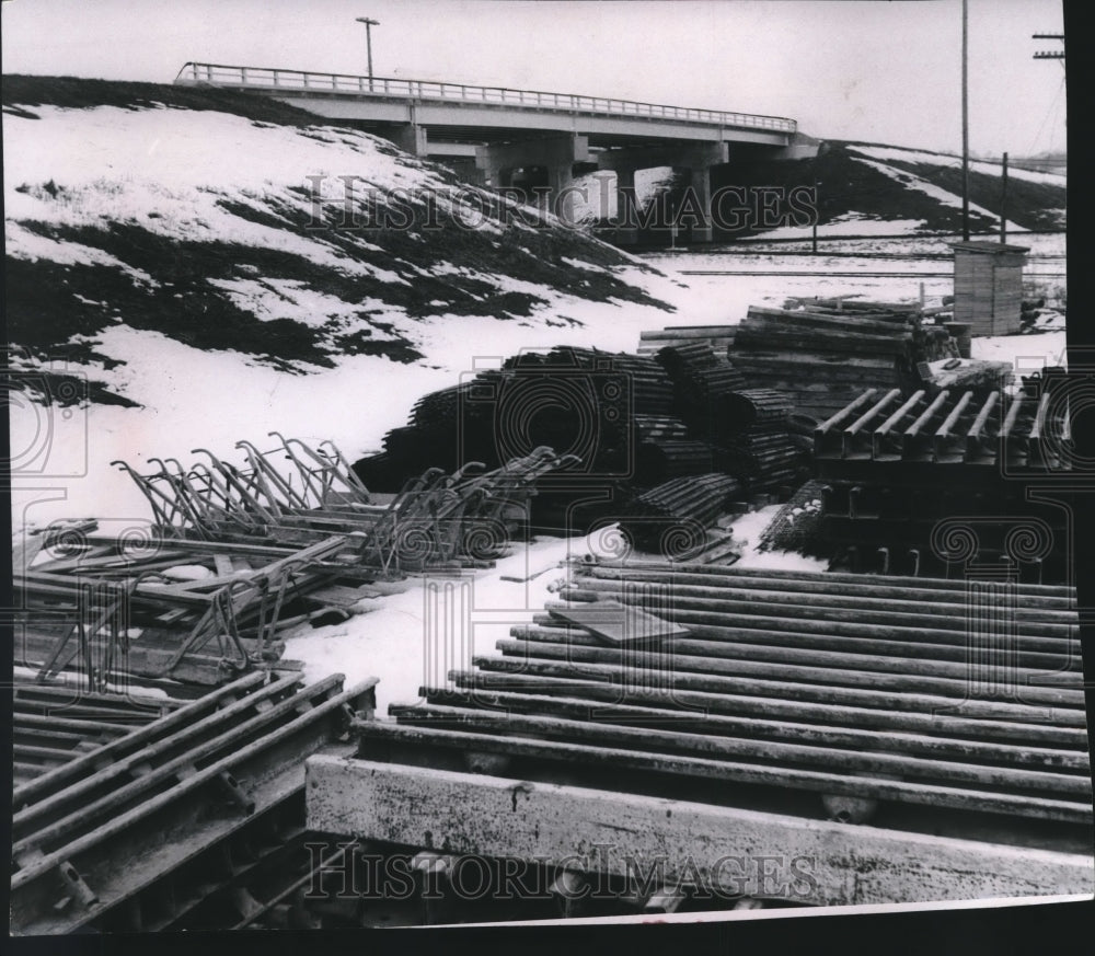
<svg viewBox="0 0 1095 956"><path fill-rule="evenodd" d="M250 675L19 784L12 933L185 926L231 897L243 873L226 851L287 813L302 829L303 761L347 752L374 684Z"/></svg>

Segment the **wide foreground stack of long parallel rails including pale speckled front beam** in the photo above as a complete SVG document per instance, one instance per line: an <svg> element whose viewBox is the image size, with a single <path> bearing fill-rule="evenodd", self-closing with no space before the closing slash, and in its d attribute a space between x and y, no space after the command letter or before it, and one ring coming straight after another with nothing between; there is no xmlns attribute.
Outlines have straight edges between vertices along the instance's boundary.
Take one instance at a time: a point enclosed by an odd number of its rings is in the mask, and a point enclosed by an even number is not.
<svg viewBox="0 0 1095 956"><path fill-rule="evenodd" d="M1095 887L1072 589L588 564L562 594L310 760L309 826L814 905ZM758 854L809 878L719 873Z"/></svg>

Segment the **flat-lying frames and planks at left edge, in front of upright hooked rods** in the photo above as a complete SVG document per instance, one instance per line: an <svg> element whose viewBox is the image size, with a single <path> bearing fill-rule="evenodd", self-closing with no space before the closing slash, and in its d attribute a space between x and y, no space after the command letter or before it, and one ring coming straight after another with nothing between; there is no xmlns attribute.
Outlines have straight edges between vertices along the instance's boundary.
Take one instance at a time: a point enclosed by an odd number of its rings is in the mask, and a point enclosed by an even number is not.
<svg viewBox="0 0 1095 956"><path fill-rule="evenodd" d="M44 546L49 545L49 546ZM15 664L83 690L173 680L217 684L277 664L284 632L345 620L379 591L360 541L272 548L135 535L32 539L15 554ZM283 663L280 666L287 666Z"/></svg>

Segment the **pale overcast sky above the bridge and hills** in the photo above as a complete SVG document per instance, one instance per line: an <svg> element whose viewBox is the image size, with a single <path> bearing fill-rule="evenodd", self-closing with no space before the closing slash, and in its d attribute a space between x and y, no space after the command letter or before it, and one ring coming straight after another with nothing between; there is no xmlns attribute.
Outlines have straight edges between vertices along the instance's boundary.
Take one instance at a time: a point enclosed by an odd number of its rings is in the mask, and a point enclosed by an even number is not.
<svg viewBox="0 0 1095 956"><path fill-rule="evenodd" d="M4 72L171 82L187 60L789 116L960 150L961 0L9 0ZM970 149L1063 149L1059 0L969 0Z"/></svg>

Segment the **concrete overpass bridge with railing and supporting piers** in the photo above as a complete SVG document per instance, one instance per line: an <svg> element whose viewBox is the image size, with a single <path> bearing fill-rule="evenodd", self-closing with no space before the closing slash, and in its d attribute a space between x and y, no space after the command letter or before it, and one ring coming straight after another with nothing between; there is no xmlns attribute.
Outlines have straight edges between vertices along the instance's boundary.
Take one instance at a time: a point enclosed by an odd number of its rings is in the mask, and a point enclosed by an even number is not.
<svg viewBox="0 0 1095 956"><path fill-rule="evenodd" d="M710 212L711 169L731 154L780 159L816 151L794 119L603 96L197 62L186 64L175 82L270 96L376 133L487 186L529 184L539 174L549 200L577 175L612 171L618 210L633 206L639 170L687 172L699 206ZM710 239L710 221L693 238Z"/></svg>

